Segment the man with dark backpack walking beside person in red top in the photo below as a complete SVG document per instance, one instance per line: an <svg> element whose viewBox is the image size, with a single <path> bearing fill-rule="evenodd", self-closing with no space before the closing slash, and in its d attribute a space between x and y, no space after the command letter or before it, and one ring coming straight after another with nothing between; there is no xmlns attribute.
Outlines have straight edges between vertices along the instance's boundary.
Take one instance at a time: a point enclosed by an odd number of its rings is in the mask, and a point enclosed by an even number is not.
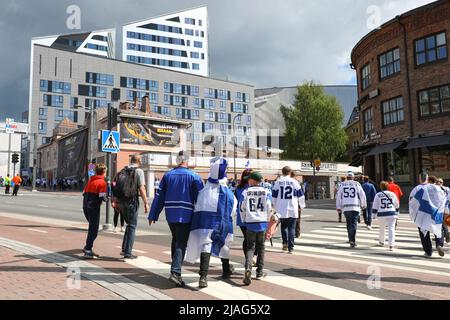
<svg viewBox="0 0 450 320"><path fill-rule="evenodd" d="M140 157L137 155L131 156L130 165L116 175L112 184L113 207L122 213L127 224L123 236L122 252L120 253L124 259L137 258L132 251L136 239L139 196L144 201L145 212L149 210L145 175L144 171L139 168L140 165Z"/></svg>

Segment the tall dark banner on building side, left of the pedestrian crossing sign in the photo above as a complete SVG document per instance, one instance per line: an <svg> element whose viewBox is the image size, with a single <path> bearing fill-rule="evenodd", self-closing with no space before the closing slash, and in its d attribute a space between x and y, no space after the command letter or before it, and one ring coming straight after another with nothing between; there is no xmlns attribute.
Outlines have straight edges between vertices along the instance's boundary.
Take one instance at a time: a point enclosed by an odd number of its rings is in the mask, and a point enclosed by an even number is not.
<svg viewBox="0 0 450 320"><path fill-rule="evenodd" d="M58 178L82 179L85 176L88 132L80 131L59 141Z"/></svg>

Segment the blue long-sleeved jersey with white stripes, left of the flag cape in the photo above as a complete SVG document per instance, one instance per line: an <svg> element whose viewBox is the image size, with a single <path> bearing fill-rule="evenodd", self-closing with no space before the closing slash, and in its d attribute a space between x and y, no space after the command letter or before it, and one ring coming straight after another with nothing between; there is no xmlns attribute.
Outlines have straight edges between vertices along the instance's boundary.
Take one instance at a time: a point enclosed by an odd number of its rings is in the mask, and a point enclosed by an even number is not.
<svg viewBox="0 0 450 320"><path fill-rule="evenodd" d="M195 172L184 167L169 171L161 179L148 220L158 221L165 208L168 223L190 223L202 189L203 182Z"/></svg>

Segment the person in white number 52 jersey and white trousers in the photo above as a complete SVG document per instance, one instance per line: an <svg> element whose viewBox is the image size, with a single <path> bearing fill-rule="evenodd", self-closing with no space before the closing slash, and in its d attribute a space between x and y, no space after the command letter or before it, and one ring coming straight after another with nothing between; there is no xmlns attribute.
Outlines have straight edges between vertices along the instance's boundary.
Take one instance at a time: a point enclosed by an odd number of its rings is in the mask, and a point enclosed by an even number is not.
<svg viewBox="0 0 450 320"><path fill-rule="evenodd" d="M394 251L395 223L398 218L400 203L398 202L397 195L394 192L389 191L388 182L382 181L380 183L380 188L381 191L375 195L372 206L372 213L375 217L378 217L380 224L379 246L384 247L385 228L387 227L389 250Z"/></svg>

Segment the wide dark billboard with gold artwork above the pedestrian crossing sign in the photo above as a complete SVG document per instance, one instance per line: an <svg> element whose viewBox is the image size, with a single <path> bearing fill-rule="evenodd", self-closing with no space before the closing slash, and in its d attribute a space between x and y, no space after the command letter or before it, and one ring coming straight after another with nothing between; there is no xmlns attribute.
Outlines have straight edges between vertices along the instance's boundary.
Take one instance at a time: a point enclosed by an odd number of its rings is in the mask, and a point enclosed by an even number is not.
<svg viewBox="0 0 450 320"><path fill-rule="evenodd" d="M122 143L144 146L178 147L180 126L153 120L122 118L120 137Z"/></svg>

